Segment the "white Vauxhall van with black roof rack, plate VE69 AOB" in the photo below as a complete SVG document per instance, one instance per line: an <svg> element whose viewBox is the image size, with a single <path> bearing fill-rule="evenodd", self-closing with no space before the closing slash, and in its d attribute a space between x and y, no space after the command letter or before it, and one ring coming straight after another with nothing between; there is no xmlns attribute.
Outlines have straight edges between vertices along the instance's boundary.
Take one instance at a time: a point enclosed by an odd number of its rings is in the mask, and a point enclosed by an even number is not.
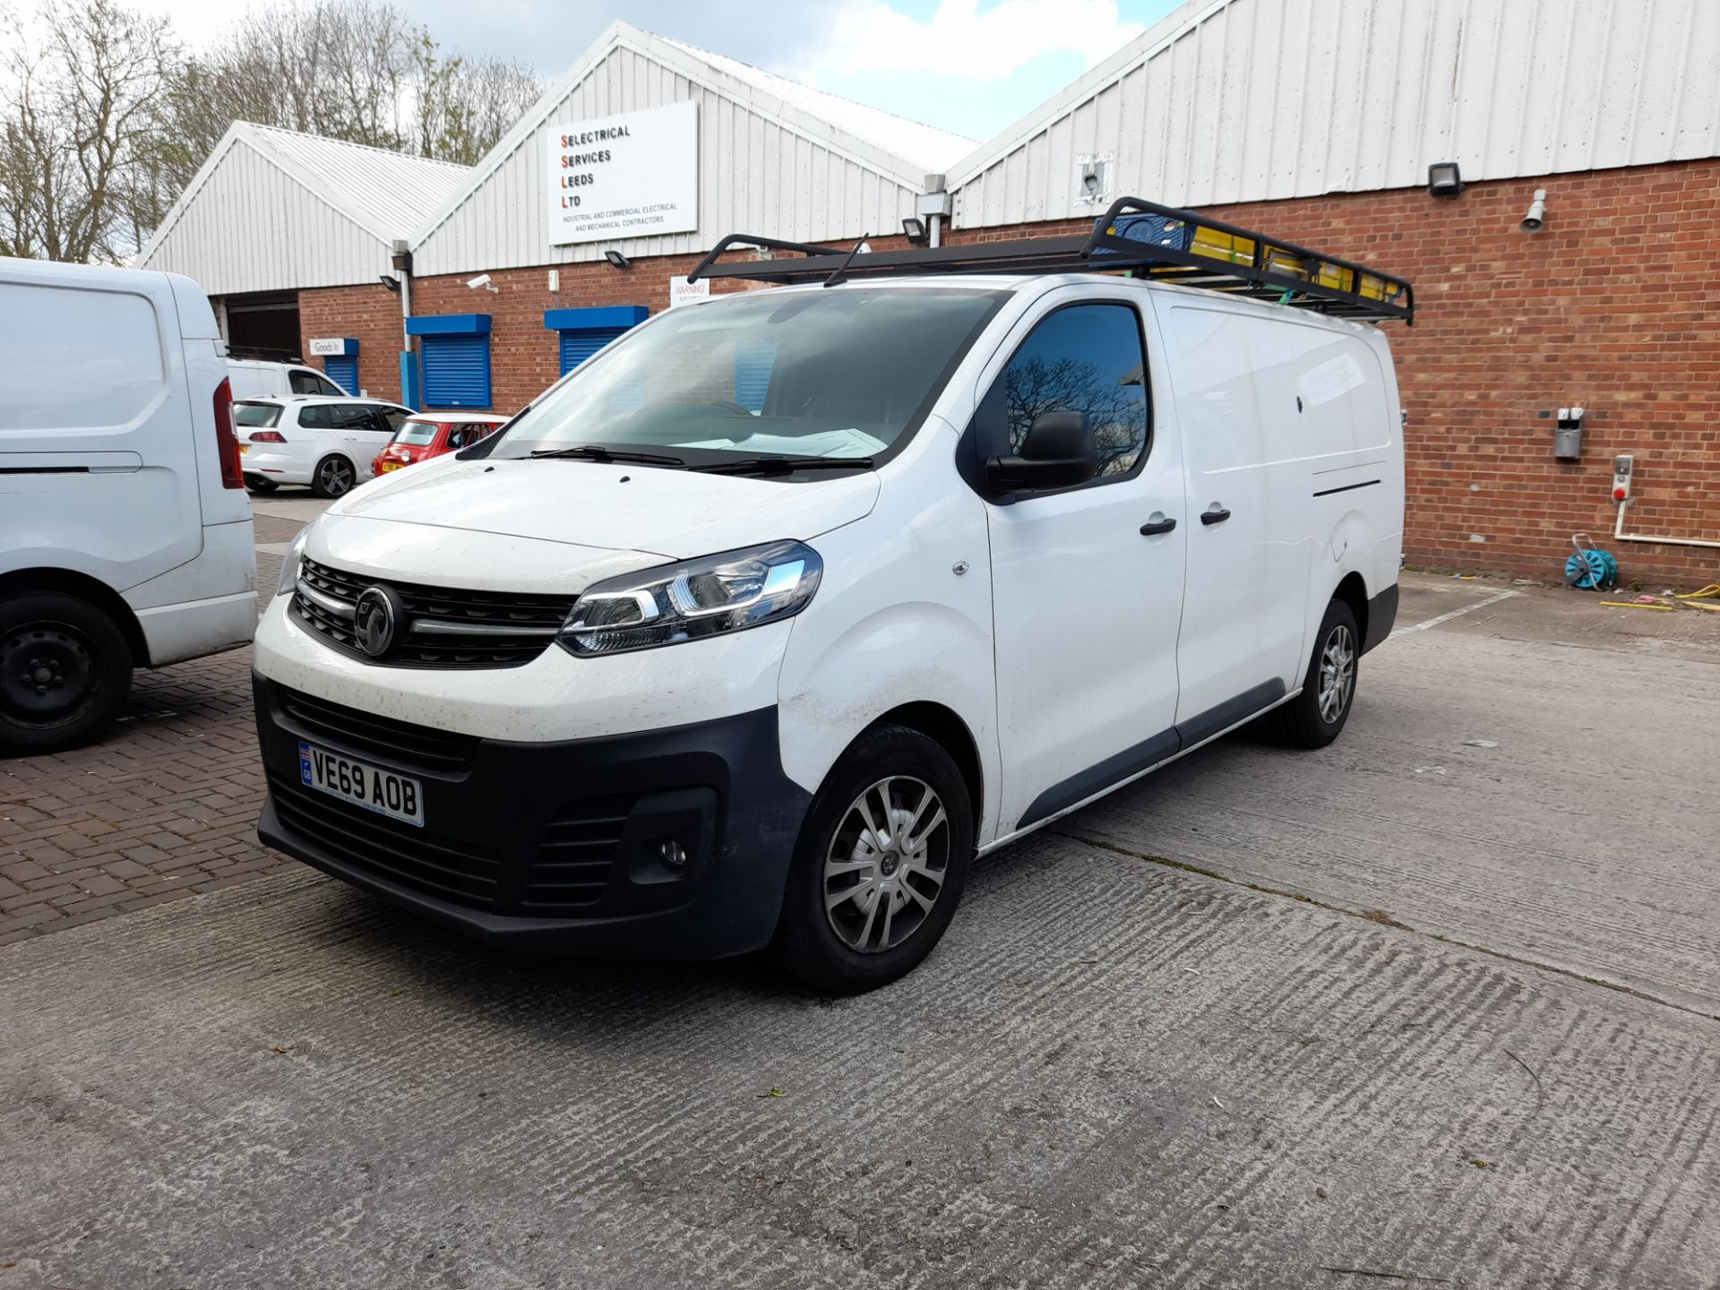
<svg viewBox="0 0 1720 1290"><path fill-rule="evenodd" d="M258 630L263 839L488 941L855 991L975 855L1262 716L1330 743L1404 519L1350 318L1409 284L1132 210L1151 241L726 239L698 272L796 286L337 502Z"/></svg>

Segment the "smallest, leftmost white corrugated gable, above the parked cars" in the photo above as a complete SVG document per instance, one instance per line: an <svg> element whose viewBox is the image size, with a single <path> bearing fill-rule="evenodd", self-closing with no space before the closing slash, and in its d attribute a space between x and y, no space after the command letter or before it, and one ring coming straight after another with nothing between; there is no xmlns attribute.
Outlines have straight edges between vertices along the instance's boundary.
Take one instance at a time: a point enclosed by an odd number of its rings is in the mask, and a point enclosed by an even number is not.
<svg viewBox="0 0 1720 1290"><path fill-rule="evenodd" d="M375 282L387 248L236 139L138 268L186 273L210 296L337 287Z"/></svg>

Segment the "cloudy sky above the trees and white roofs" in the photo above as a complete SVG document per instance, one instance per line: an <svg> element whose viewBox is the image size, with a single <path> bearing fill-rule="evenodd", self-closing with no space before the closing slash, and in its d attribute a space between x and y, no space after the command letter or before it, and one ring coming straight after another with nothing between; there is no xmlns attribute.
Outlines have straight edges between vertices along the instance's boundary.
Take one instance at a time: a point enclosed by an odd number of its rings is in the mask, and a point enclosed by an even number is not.
<svg viewBox="0 0 1720 1290"><path fill-rule="evenodd" d="M261 0L134 0L193 45ZM397 0L449 50L564 72L617 17L989 138L1180 0Z"/></svg>

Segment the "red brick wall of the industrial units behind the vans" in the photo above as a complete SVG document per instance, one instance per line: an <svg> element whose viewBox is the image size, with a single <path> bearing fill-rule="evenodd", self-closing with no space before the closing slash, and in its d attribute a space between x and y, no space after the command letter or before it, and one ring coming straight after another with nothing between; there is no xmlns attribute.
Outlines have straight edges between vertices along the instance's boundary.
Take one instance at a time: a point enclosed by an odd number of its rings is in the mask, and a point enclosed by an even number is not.
<svg viewBox="0 0 1720 1290"><path fill-rule="evenodd" d="M1536 187L1548 191L1548 220L1529 237L1517 222ZM1720 246L1720 162L1472 184L1455 201L1400 189L1207 210L1414 284L1416 325L1386 325L1410 415L1412 561L1553 578L1581 530L1619 554L1625 578L1720 578L1720 552L1610 537L1612 458L1634 452L1629 528L1720 540L1720 308L1708 284ZM955 230L949 241L1082 229ZM495 408L513 411L559 375L545 310L645 304L655 313L667 306L669 277L693 263L564 265L556 294L545 268L495 270L495 294L468 291L473 267L415 282L413 311L492 315ZM714 284L728 289L740 284ZM299 299L306 335L361 337L366 382L389 382L370 384L372 394L394 397L399 301L382 287ZM387 316L375 344L365 330L373 313ZM378 359L392 365L387 373L377 373ZM1553 459L1553 421L1541 416L1565 404L1589 409L1582 461L1569 464Z"/></svg>

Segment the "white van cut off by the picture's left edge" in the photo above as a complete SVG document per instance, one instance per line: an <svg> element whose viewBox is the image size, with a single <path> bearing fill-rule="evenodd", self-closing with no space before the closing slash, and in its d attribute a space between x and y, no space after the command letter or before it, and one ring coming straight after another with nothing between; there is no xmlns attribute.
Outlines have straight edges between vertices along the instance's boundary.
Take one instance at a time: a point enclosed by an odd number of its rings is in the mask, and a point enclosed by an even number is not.
<svg viewBox="0 0 1720 1290"><path fill-rule="evenodd" d="M132 667L244 645L251 504L186 277L0 260L0 755L101 734Z"/></svg>

